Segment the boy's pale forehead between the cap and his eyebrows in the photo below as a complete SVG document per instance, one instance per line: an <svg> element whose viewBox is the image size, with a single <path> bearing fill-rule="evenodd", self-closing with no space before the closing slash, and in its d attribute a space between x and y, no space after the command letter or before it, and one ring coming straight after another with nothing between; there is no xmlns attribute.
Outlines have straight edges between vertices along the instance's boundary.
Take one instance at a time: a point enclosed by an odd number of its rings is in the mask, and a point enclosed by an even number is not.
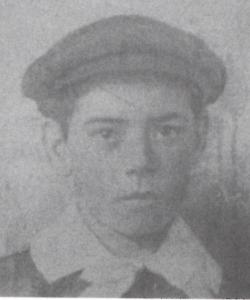
<svg viewBox="0 0 250 300"><path fill-rule="evenodd" d="M75 114L91 117L158 117L166 113L187 114L190 90L182 83L103 83L79 98Z"/></svg>

